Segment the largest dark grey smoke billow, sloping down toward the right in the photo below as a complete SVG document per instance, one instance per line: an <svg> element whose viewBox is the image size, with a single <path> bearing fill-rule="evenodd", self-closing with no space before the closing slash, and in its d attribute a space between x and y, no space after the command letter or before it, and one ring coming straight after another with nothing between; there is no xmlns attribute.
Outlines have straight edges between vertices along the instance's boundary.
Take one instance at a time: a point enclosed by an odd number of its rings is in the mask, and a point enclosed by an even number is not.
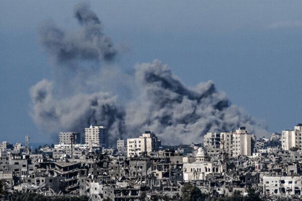
<svg viewBox="0 0 302 201"><path fill-rule="evenodd" d="M234 131L246 126L250 132L266 134L263 125L231 105L212 81L186 87L160 61L136 66L140 97L127 107L129 133L155 131L168 143L198 142L209 131Z"/></svg>

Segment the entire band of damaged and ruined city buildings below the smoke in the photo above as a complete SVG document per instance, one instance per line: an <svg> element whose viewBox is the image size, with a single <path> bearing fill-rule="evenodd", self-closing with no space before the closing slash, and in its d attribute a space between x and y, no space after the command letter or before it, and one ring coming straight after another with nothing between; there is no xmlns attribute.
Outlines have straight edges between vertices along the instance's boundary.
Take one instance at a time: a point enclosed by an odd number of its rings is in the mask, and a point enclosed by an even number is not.
<svg viewBox="0 0 302 201"><path fill-rule="evenodd" d="M3 142L0 179L15 191L87 195L95 201L177 199L185 183L216 197L246 195L253 188L272 199L302 198L300 127L261 138L241 127L206 133L203 144L179 146L161 145L155 133L146 131L109 148L100 139L107 131L92 125L85 130L85 144L71 143L72 133L65 134L70 143L65 137L37 150Z"/></svg>

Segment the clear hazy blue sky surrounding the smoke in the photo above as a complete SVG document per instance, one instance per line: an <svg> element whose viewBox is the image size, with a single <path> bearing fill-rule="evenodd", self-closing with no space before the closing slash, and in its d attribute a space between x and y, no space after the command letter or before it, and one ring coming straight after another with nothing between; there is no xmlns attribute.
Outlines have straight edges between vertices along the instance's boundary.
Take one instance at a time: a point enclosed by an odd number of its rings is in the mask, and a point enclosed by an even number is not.
<svg viewBox="0 0 302 201"><path fill-rule="evenodd" d="M29 88L49 78L37 38L45 20L73 30L77 1L0 1L0 140L54 142L30 113ZM117 65L160 59L188 85L213 80L269 132L302 123L301 1L91 1L125 49Z"/></svg>

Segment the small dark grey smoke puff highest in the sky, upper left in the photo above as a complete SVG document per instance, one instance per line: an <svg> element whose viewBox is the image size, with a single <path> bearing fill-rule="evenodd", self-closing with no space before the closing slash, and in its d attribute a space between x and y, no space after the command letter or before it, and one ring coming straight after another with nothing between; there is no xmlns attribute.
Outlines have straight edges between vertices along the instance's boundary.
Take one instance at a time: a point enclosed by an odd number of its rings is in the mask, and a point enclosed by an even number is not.
<svg viewBox="0 0 302 201"><path fill-rule="evenodd" d="M88 4L74 7L74 17L82 29L79 33L66 34L52 22L40 27L42 45L57 64L74 68L79 61L112 61L117 54L111 39L102 31L101 21Z"/></svg>

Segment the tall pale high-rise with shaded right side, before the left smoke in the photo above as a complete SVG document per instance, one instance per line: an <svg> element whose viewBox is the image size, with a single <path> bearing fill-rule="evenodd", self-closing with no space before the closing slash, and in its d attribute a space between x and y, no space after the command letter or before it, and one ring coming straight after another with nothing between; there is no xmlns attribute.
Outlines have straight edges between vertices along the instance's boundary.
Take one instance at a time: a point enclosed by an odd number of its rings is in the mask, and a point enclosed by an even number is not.
<svg viewBox="0 0 302 201"><path fill-rule="evenodd" d="M104 148L108 147L108 131L101 125L90 125L89 128L85 128L85 143L97 144Z"/></svg>

